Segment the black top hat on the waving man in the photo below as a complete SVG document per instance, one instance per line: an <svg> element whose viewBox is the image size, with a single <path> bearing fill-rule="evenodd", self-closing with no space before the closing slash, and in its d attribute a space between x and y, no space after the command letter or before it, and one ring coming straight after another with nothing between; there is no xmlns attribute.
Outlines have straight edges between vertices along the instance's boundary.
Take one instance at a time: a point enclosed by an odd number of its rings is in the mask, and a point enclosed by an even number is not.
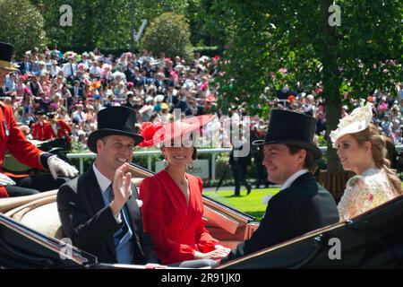
<svg viewBox="0 0 403 287"><path fill-rule="evenodd" d="M97 141L107 135L126 135L134 139L134 145L142 142L141 135L134 134L136 114L133 109L117 106L101 109L97 115L98 130L88 137L88 147L97 153Z"/></svg>

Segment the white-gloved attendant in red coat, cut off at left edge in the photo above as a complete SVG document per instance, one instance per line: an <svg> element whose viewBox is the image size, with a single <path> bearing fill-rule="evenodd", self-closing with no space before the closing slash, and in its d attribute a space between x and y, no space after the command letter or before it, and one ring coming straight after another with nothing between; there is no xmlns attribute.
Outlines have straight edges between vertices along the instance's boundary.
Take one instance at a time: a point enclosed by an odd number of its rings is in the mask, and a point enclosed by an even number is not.
<svg viewBox="0 0 403 287"><path fill-rule="evenodd" d="M12 55L13 45L0 42L0 87L4 85L6 74L17 71L11 63ZM15 122L13 109L0 101L0 166L3 166L6 150L11 152L21 163L40 170L50 170L54 178L57 178L57 172L66 177L74 177L78 173L78 170L67 162L58 159L56 155L42 152L27 141ZM0 198L27 194L31 193L25 193L22 187L7 186L7 190L0 187Z"/></svg>

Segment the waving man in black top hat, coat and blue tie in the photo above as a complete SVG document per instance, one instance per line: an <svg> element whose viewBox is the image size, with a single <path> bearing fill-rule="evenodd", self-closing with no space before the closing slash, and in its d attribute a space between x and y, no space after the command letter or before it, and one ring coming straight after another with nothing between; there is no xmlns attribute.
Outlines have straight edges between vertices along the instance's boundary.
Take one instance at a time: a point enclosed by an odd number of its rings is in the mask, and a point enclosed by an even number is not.
<svg viewBox="0 0 403 287"><path fill-rule="evenodd" d="M88 139L97 153L90 170L60 187L57 206L64 233L73 245L104 263L157 263L150 237L141 222L141 201L126 173L133 147L135 114L126 107L98 113L98 130Z"/></svg>

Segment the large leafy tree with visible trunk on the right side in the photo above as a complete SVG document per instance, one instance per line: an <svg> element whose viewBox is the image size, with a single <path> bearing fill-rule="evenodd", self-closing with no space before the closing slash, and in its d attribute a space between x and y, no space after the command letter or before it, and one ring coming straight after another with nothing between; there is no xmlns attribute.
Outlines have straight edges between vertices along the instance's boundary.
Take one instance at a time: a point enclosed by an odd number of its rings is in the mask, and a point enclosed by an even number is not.
<svg viewBox="0 0 403 287"><path fill-rule="evenodd" d="M403 4L399 0L339 0L340 26L332 26L333 1L219 0L229 37L220 79L221 107L248 103L248 110L267 115L262 97L284 83L308 91L322 83L327 132L337 127L345 92L366 98L374 89L395 93L403 78ZM219 15L219 21L222 21ZM286 67L287 74L279 73ZM258 104L261 104L260 106ZM340 170L328 140L328 170Z"/></svg>

